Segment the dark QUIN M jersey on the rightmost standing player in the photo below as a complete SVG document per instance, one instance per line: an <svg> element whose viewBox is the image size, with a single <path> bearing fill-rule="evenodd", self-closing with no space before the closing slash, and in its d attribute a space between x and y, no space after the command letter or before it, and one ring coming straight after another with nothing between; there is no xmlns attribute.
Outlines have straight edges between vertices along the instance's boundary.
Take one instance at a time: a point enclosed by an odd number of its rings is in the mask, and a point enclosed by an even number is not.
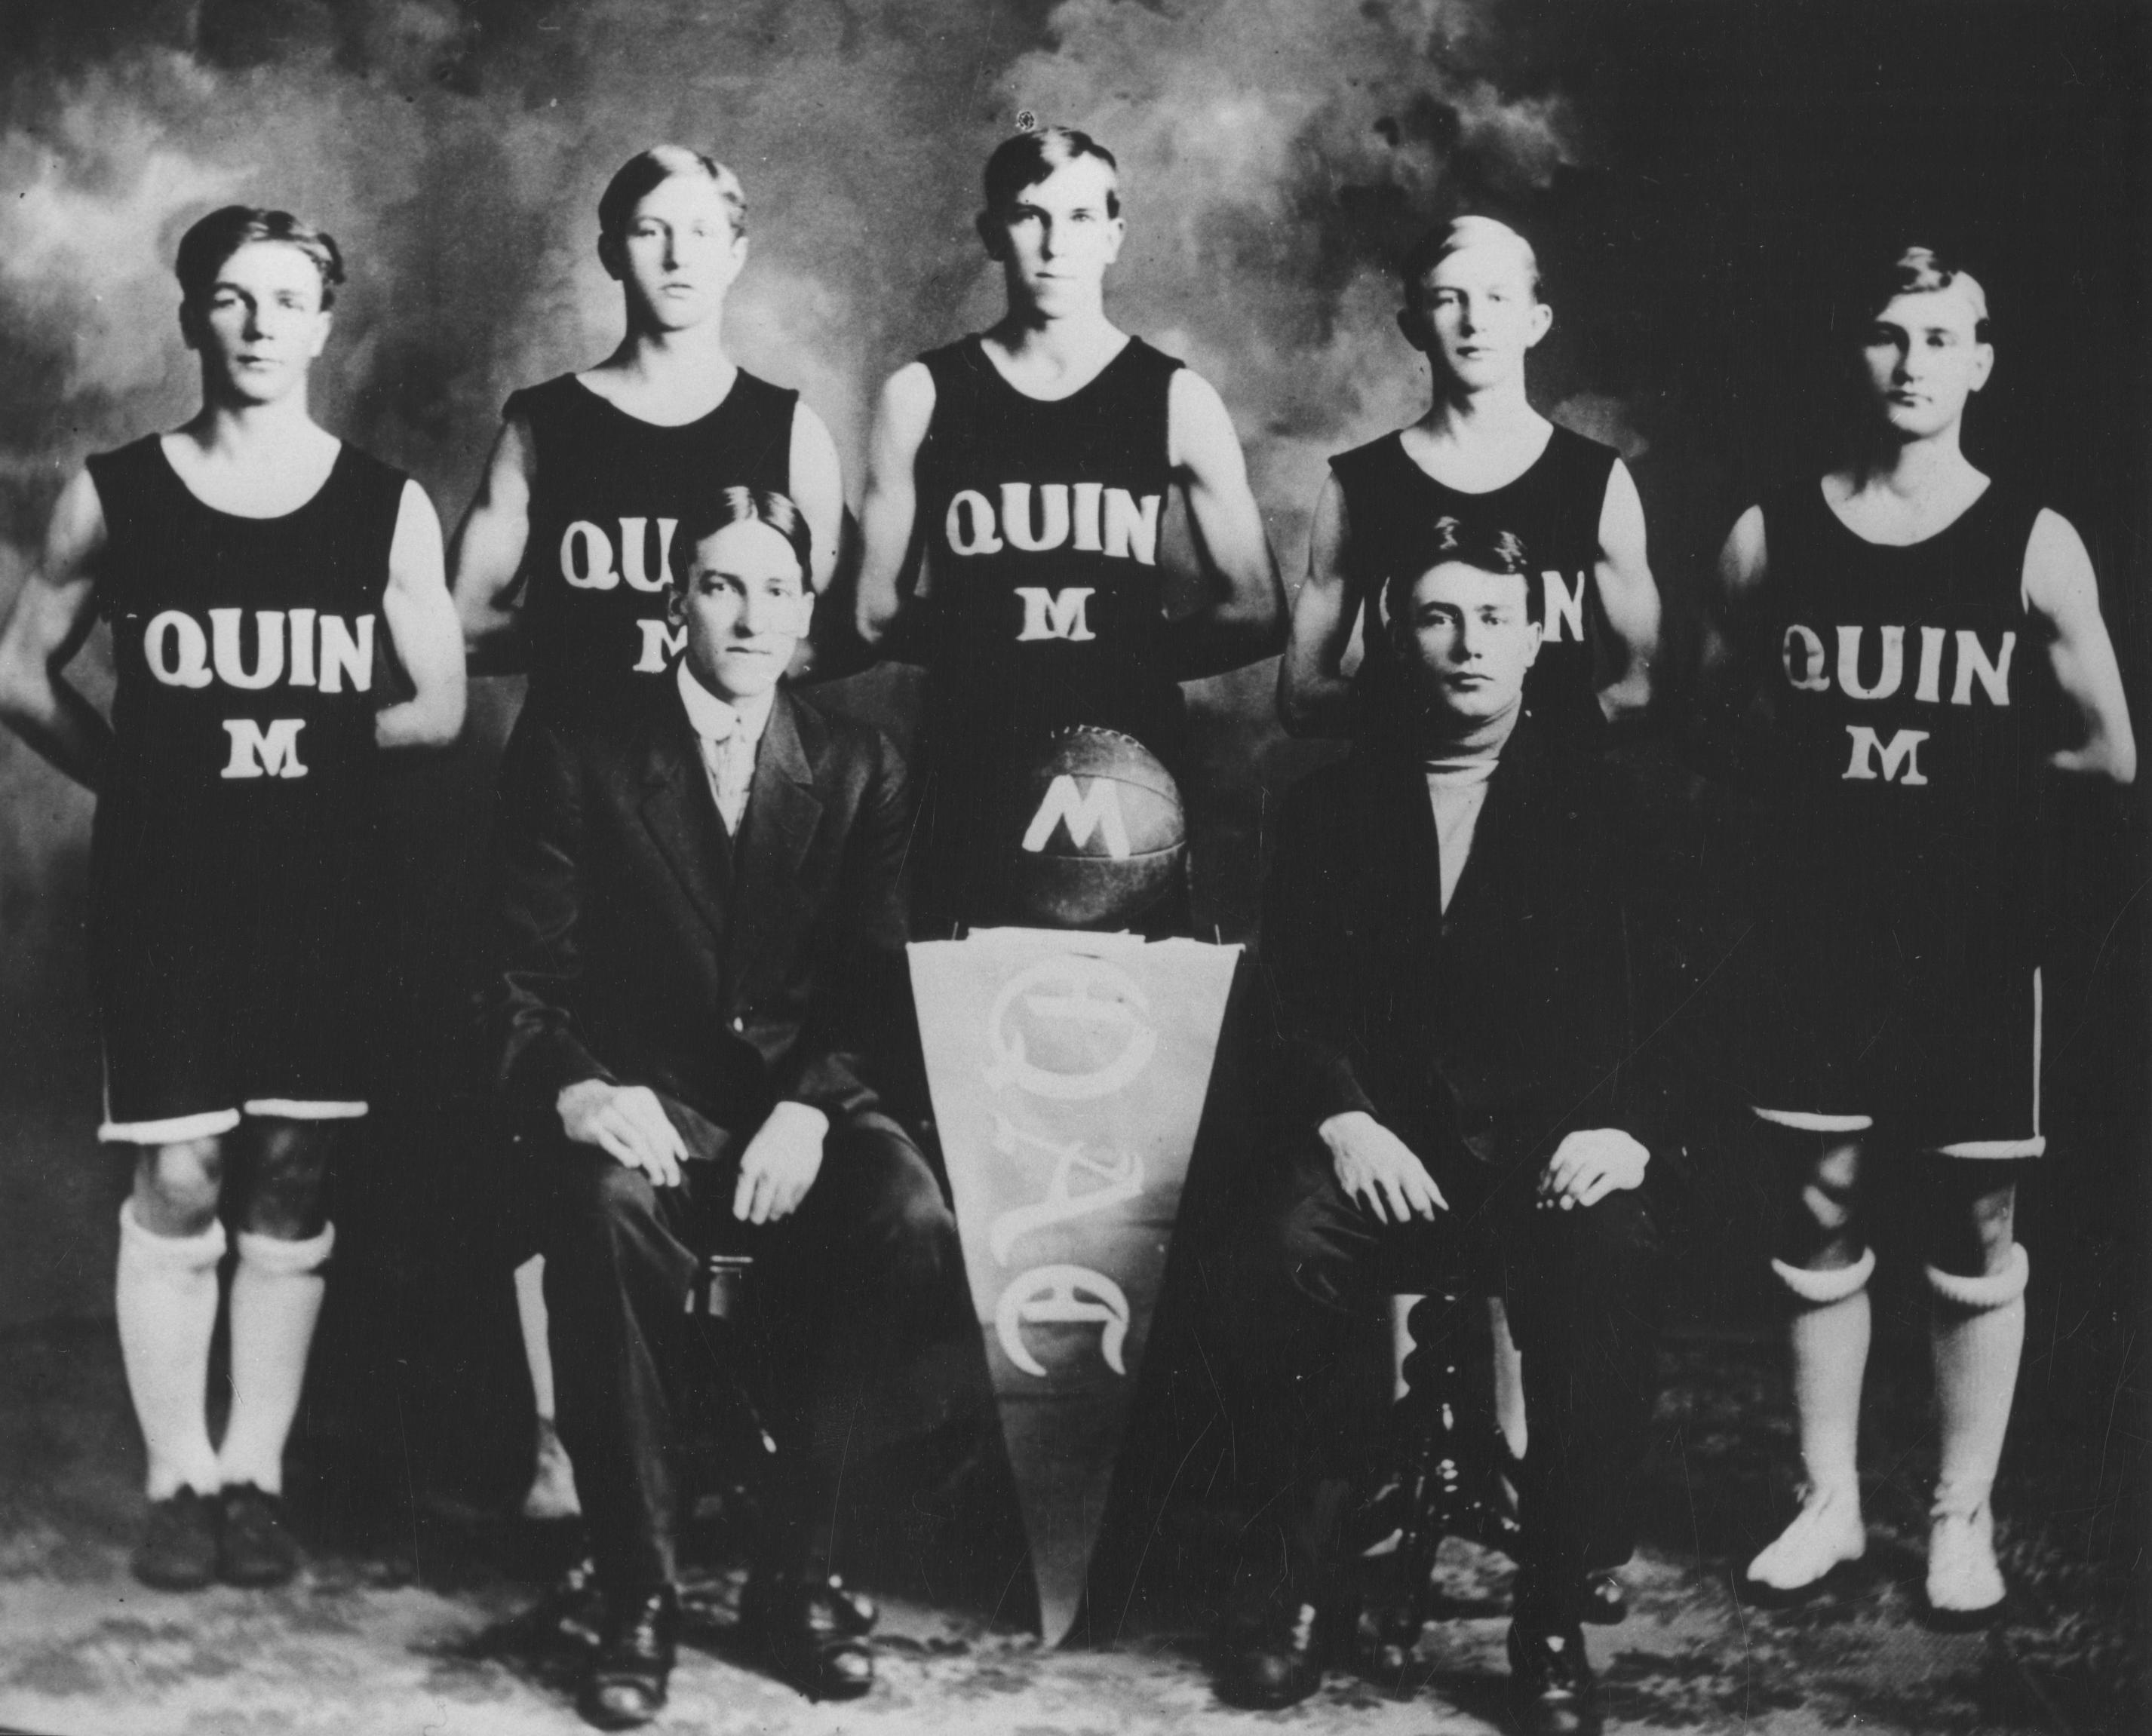
<svg viewBox="0 0 2152 1736"><path fill-rule="evenodd" d="M1762 503L1786 852L1840 897L1900 912L1894 927L1995 912L2038 929L2038 772L2059 723L2023 596L2038 514L1991 482L1928 540L1883 546L1814 478Z"/></svg>

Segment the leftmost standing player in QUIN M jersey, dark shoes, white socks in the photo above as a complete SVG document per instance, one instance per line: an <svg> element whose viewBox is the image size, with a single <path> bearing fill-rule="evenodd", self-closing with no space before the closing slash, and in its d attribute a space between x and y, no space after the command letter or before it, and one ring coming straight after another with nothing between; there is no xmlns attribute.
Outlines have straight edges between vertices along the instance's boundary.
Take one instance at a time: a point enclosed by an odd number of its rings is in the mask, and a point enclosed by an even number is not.
<svg viewBox="0 0 2152 1736"><path fill-rule="evenodd" d="M284 1439L321 1312L329 1168L366 1114L368 789L463 727L424 490L308 417L336 243L226 207L179 245L202 409L90 458L0 637L0 714L97 792L99 1138L133 1149L114 1306L148 1448L151 1585L280 1583ZM65 678L112 624L112 721ZM383 703L379 635L413 695ZM232 1409L207 1424L224 1213Z"/></svg>

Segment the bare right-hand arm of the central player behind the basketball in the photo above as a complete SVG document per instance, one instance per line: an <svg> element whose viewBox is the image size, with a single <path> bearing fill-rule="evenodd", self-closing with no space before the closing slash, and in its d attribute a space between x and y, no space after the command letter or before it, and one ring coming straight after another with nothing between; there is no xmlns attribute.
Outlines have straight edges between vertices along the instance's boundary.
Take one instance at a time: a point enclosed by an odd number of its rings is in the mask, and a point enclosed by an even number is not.
<svg viewBox="0 0 2152 1736"><path fill-rule="evenodd" d="M1188 490L1188 521L1209 600L1166 624L1177 680L1218 675L1285 648L1285 585L1248 490L1248 460L1224 400L1207 379L1175 368L1166 398L1166 456Z"/></svg>

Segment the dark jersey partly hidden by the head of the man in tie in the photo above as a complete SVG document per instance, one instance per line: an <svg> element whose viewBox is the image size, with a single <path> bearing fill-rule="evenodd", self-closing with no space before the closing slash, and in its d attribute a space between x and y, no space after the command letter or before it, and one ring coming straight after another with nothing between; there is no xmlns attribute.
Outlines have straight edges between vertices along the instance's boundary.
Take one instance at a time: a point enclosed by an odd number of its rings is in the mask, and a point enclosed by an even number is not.
<svg viewBox="0 0 2152 1736"><path fill-rule="evenodd" d="M678 428L628 415L575 374L516 392L538 447L525 587L527 706L547 716L611 716L663 691L684 645L665 613L676 531L719 488L792 488L796 392L745 368L708 415Z"/></svg>

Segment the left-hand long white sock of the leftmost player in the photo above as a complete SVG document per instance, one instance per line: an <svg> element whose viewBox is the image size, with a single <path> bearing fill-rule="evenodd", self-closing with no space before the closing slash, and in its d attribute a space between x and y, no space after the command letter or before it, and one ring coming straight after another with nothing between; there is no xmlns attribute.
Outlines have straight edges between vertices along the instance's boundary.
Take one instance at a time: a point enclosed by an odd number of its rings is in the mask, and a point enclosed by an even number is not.
<svg viewBox="0 0 2152 1736"><path fill-rule="evenodd" d="M155 1235L121 1207L121 1265L112 1310L121 1362L148 1448L148 1497L181 1486L217 1491L217 1452L209 1446L209 1340L217 1329L217 1261L224 1224L200 1235Z"/></svg>

